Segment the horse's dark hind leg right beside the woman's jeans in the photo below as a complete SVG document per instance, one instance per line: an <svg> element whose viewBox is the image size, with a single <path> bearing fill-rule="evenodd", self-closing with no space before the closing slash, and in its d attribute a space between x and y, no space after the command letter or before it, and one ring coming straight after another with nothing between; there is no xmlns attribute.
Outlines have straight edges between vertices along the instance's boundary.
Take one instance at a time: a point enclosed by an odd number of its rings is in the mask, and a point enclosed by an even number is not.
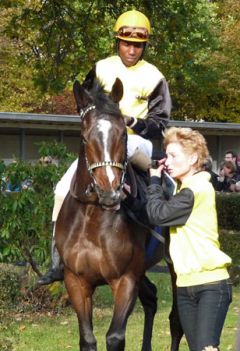
<svg viewBox="0 0 240 351"><path fill-rule="evenodd" d="M180 323L178 309L177 309L177 286L176 286L176 273L174 272L173 265L168 264L172 281L172 310L169 314L170 332L172 337L171 351L178 351L179 344L183 336L183 329Z"/></svg>

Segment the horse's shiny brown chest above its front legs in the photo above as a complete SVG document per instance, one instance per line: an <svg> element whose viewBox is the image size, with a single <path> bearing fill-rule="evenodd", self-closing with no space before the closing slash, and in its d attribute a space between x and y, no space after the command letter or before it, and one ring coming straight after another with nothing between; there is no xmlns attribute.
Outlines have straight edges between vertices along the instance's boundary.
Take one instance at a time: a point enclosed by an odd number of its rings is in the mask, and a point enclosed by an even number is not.
<svg viewBox="0 0 240 351"><path fill-rule="evenodd" d="M78 218L63 247L64 263L76 274L108 280L142 261L142 240L121 214L90 209Z"/></svg>

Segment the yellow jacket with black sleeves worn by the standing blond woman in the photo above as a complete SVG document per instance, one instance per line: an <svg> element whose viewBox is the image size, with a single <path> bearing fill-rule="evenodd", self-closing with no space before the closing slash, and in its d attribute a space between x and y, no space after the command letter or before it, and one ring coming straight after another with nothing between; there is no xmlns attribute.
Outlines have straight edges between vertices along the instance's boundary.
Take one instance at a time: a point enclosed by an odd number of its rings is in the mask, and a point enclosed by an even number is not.
<svg viewBox="0 0 240 351"><path fill-rule="evenodd" d="M189 177L169 200L156 178L151 178L148 187L147 212L152 224L170 226L170 255L177 286L227 279L231 258L220 249L210 174L199 172Z"/></svg>

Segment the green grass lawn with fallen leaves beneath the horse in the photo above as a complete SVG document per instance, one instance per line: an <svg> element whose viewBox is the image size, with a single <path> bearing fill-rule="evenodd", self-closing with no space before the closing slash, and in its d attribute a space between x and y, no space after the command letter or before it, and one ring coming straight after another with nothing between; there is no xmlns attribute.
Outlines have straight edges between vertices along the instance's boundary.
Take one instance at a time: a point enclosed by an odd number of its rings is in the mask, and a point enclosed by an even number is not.
<svg viewBox="0 0 240 351"><path fill-rule="evenodd" d="M169 274L150 273L150 278L158 287L158 312L153 332L153 351L170 350L170 332L168 314L171 306L171 286ZM240 316L240 287L234 287L231 304L222 334L221 351L239 351L236 346L238 318ZM94 296L94 332L98 350L104 351L105 334L112 316L112 298L108 287L98 288ZM129 318L126 335L126 350L141 350L143 330L143 311L138 302ZM78 323L71 307L54 314L16 313L8 321L1 338L13 345L0 351L79 351ZM1 346L1 343L0 343ZM185 339L182 339L180 351L187 351Z"/></svg>

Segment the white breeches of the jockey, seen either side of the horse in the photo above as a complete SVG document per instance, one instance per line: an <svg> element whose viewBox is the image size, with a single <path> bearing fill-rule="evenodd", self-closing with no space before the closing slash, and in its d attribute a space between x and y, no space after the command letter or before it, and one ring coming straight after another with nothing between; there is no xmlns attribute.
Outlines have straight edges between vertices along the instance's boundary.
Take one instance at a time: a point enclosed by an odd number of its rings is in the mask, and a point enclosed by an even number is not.
<svg viewBox="0 0 240 351"><path fill-rule="evenodd" d="M151 158L153 145L150 140L144 139L139 135L130 134L128 135L127 141L127 155L128 158L132 157L136 151L142 151L146 156ZM78 159L76 159L67 172L62 176L60 181L57 183L54 191L54 207L52 213L52 221L57 220L58 213L61 209L63 200L70 190L70 184L72 177L77 169Z"/></svg>

